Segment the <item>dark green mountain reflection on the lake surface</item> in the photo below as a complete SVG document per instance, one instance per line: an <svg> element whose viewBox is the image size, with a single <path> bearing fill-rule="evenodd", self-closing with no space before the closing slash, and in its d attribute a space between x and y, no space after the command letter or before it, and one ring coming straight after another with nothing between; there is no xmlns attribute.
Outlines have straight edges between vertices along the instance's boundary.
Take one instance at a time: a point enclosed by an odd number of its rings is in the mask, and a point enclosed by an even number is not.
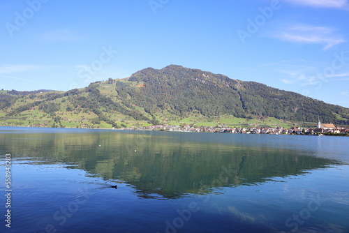
<svg viewBox="0 0 349 233"><path fill-rule="evenodd" d="M214 134L84 133L1 134L1 151L34 164L64 163L91 176L118 179L142 198L178 198L251 186L274 177L304 174L336 160L281 149L216 143ZM191 135L193 137L193 135ZM248 137L246 137L248 138ZM72 166L74 165L74 166Z"/></svg>

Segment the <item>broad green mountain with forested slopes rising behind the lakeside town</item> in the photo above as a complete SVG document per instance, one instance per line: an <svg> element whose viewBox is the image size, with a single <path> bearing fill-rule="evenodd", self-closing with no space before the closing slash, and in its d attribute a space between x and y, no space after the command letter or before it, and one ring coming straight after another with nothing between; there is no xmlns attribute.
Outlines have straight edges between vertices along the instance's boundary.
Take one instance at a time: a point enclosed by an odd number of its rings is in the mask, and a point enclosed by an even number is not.
<svg viewBox="0 0 349 233"><path fill-rule="evenodd" d="M145 68L122 80L109 78L66 92L37 91L21 95L2 91L0 100L0 117L18 122L18 119L41 119L58 124L64 119L70 124L86 121L91 125L118 126L117 123L127 125L131 121L156 124L163 119L179 122L193 116L200 119L233 116L349 123L346 107L258 82L233 80L175 65L160 70Z"/></svg>

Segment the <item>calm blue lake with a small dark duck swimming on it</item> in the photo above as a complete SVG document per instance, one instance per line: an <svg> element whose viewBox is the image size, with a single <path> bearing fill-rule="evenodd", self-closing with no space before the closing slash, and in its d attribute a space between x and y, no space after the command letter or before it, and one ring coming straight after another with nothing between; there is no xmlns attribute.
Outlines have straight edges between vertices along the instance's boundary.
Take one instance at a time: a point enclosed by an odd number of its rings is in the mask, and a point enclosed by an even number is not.
<svg viewBox="0 0 349 233"><path fill-rule="evenodd" d="M348 151L349 137L0 127L0 232L349 232Z"/></svg>

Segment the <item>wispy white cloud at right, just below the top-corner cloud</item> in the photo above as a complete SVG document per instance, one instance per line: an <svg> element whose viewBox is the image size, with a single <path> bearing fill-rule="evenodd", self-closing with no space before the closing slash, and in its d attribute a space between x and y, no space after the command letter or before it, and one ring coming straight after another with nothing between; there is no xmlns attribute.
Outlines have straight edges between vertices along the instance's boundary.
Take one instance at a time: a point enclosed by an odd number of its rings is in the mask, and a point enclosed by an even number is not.
<svg viewBox="0 0 349 233"><path fill-rule="evenodd" d="M295 43L321 44L324 46L322 47L323 50L328 50L334 45L346 42L342 36L334 34L334 31L334 29L329 27L314 27L297 24L274 32L272 36Z"/></svg>

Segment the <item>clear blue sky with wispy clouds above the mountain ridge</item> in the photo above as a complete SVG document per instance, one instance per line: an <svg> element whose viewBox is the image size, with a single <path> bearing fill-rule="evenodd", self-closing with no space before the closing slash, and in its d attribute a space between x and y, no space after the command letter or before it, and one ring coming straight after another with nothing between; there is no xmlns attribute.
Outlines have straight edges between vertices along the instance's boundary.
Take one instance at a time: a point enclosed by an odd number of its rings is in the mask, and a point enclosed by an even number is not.
<svg viewBox="0 0 349 233"><path fill-rule="evenodd" d="M16 0L0 13L0 89L176 64L349 107L347 0Z"/></svg>

